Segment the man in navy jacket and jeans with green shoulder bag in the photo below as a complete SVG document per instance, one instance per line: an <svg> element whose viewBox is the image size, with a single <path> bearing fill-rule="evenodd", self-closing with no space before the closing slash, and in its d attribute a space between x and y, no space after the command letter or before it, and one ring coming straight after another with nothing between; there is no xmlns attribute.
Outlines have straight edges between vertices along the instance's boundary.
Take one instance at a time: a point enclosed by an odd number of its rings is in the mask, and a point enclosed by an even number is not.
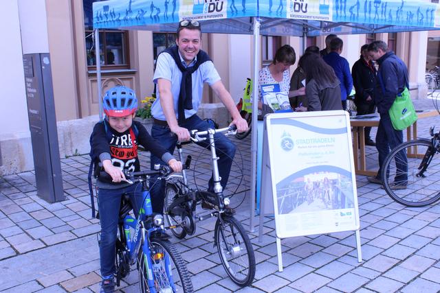
<svg viewBox="0 0 440 293"><path fill-rule="evenodd" d="M380 114L379 127L376 134L376 148L379 152L379 171L375 177L369 177L370 183L382 185L382 165L390 149L403 142L402 130L395 130L391 124L388 113L393 105L397 94L404 91L408 86L408 69L405 63L395 56L393 51L388 50L388 45L382 40L376 40L369 45L369 54L379 64L374 98L377 112ZM401 160L396 160L396 168L399 176L395 177L395 183L391 188L406 189L408 180L408 163L406 155Z"/></svg>

